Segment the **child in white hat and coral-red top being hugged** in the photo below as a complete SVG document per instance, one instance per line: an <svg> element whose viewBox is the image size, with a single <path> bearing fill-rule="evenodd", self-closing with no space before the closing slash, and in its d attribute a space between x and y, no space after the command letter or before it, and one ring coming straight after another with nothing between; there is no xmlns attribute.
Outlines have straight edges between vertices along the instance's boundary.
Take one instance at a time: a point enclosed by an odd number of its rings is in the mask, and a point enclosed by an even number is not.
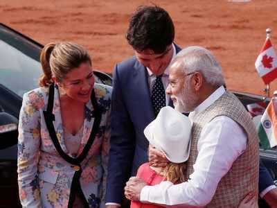
<svg viewBox="0 0 277 208"><path fill-rule="evenodd" d="M165 168L142 164L136 176L149 185L159 184L164 180L176 184L185 182L184 171L190 153L190 130L191 123L187 116L169 106L161 108L157 118L145 128L144 135L151 146L165 153L170 163ZM160 206L132 201L131 207Z"/></svg>

